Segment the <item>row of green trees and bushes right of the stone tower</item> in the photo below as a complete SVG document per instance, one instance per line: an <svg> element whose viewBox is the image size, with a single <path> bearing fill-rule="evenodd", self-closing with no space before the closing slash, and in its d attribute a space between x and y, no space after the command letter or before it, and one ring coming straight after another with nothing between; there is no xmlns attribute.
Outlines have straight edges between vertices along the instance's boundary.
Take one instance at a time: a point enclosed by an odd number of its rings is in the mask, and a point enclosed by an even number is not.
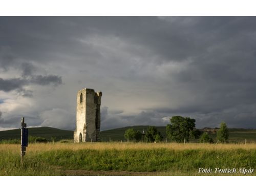
<svg viewBox="0 0 256 192"><path fill-rule="evenodd" d="M225 122L220 124L217 131L218 142L226 142L228 129ZM162 142L163 136L155 126L149 126L146 133L141 133L133 128L127 129L124 134L127 141ZM166 138L175 142L188 142L190 138L200 139L200 142L213 143L213 139L206 132L196 129L196 120L190 117L173 116L170 124L166 125Z"/></svg>

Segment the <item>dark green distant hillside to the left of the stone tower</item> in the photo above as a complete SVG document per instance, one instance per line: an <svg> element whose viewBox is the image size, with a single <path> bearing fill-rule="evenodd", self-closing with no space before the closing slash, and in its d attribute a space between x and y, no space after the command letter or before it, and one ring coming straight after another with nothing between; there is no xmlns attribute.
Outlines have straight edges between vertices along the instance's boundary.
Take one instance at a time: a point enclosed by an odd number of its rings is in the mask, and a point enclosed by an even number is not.
<svg viewBox="0 0 256 192"><path fill-rule="evenodd" d="M49 140L51 139L51 137L56 137L56 140L73 139L73 131L60 130L47 126L31 127L28 129L29 136L44 137ZM20 139L20 129L1 131L0 140L2 139Z"/></svg>

